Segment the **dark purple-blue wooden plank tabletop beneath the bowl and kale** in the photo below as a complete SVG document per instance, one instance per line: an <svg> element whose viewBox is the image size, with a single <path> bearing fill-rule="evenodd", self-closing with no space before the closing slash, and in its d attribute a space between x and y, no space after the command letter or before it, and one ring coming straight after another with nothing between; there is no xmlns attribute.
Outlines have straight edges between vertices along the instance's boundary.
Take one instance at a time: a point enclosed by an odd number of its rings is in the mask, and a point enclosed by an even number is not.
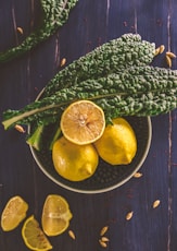
<svg viewBox="0 0 177 251"><path fill-rule="evenodd" d="M0 67L0 116L34 100L60 70L62 58L69 63L97 46L125 33L139 33L143 39L177 52L176 0L79 0L67 23L33 51ZM39 0L0 1L0 50L20 44L40 20ZM16 33L16 27L24 33ZM164 55L155 61L167 67ZM176 69L173 60L173 69ZM0 213L13 195L29 204L27 215L40 220L46 196L66 198L73 212L71 228L50 238L53 250L98 251L100 229L109 225L110 251L177 250L177 110L152 118L152 143L140 169L142 177L102 194L67 191L49 180L35 163L25 135L0 125ZM155 210L152 204L160 200ZM126 214L134 212L130 220ZM21 227L0 229L1 251L28 250Z"/></svg>

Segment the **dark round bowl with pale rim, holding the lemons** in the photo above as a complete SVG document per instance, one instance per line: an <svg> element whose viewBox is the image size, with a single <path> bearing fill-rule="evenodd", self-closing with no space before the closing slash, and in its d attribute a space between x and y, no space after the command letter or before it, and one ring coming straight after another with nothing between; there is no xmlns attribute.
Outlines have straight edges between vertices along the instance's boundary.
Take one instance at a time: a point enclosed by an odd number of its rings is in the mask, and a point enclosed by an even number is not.
<svg viewBox="0 0 177 251"><path fill-rule="evenodd" d="M128 181L138 171L147 157L151 143L151 120L149 117L125 117L125 119L131 124L138 143L136 156L129 165L112 166L100 159L94 175L84 181L68 181L62 178L53 167L51 151L45 147L53 130L52 125L42 133L42 150L39 152L30 147L33 156L39 168L52 181L67 190L80 193L101 193L113 190Z"/></svg>

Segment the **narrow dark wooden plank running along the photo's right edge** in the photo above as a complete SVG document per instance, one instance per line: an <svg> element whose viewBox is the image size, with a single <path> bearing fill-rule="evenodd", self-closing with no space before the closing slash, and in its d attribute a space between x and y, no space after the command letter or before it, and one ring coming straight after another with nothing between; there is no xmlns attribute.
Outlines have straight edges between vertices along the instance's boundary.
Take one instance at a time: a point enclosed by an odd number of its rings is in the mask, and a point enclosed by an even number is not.
<svg viewBox="0 0 177 251"><path fill-rule="evenodd" d="M177 33L176 33L176 14L175 10L177 8L176 1L170 1L169 3L169 45L168 50L173 51L174 53L177 52L176 43L177 43ZM173 59L173 69L176 69L176 59ZM168 249L176 250L177 249L177 240L176 240L176 232L177 232L177 219L176 219L176 210L177 210L177 199L176 199L176 191L177 191L177 155L176 155L176 142L177 142L177 110L174 110L170 113L170 155L169 155L169 167L168 167L168 218L169 218L169 226L168 226Z"/></svg>

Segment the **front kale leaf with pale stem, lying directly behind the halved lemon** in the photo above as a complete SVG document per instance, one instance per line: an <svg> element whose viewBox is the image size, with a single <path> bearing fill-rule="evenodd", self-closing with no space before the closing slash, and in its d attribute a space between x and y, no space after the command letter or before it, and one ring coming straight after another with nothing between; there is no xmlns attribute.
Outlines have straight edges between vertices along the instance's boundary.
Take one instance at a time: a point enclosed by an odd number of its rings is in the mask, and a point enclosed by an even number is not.
<svg viewBox="0 0 177 251"><path fill-rule="evenodd" d="M3 113L4 129L16 123L49 124L56 121L71 103L90 99L105 112L106 120L117 116L154 116L176 108L177 71L153 67L129 68L119 74L88 80L41 98L22 110Z"/></svg>

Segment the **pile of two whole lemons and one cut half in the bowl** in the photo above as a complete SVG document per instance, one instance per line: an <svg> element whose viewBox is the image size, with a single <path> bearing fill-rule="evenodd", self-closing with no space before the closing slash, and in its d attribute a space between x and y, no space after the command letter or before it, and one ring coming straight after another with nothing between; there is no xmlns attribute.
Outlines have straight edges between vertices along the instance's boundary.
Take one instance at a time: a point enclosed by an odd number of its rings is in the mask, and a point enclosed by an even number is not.
<svg viewBox="0 0 177 251"><path fill-rule="evenodd" d="M105 125L103 110L90 100L71 104L61 117L63 135L55 141L52 159L55 170L71 181L91 177L99 157L111 165L131 163L137 152L136 134L123 118Z"/></svg>

